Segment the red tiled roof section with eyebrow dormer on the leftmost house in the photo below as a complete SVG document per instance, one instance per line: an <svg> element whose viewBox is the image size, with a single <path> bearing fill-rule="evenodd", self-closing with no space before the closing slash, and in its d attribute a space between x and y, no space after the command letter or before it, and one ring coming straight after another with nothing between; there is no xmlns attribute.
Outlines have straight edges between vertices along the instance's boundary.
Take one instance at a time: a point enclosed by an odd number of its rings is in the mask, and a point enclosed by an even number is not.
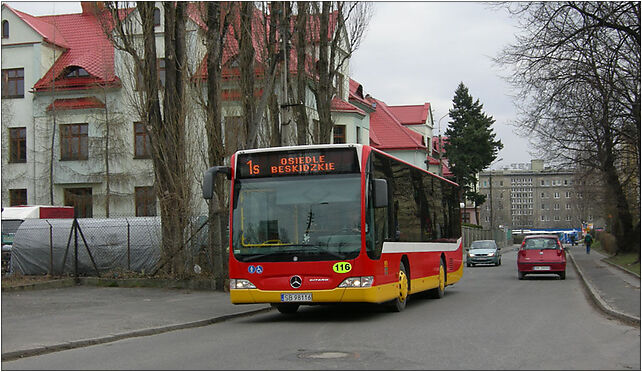
<svg viewBox="0 0 642 372"><path fill-rule="evenodd" d="M34 85L35 90L46 90L55 80L56 88L82 89L94 84L119 84L114 74L114 47L105 35L100 21L92 13L63 14L37 17L43 23L55 25L69 48ZM66 68L78 66L91 76L65 78Z"/></svg>

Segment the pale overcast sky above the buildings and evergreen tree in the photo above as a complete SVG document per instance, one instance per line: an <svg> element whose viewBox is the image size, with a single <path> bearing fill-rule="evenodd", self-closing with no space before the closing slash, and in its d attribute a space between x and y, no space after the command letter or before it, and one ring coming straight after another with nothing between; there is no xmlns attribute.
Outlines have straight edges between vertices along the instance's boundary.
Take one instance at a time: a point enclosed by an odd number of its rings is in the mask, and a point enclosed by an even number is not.
<svg viewBox="0 0 642 372"><path fill-rule="evenodd" d="M81 11L79 2L9 5L32 15ZM510 125L515 119L510 87L491 61L513 42L516 25L505 11L484 3L377 2L365 39L350 61L351 77L365 93L389 105L430 102L435 133L463 82L496 120L494 130L504 144L497 166L528 163L528 140ZM448 120L441 120L442 133Z"/></svg>

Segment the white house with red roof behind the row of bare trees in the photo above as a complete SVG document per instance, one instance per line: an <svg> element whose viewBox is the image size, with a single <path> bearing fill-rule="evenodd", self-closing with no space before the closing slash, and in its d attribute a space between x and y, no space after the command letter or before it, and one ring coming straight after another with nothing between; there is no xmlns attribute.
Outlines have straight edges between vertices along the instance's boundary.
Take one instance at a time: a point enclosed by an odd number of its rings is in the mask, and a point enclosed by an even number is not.
<svg viewBox="0 0 642 372"><path fill-rule="evenodd" d="M150 142L139 119L137 71L131 58L115 49L104 34L96 3L81 4L82 13L38 17L2 4L2 204L74 205L77 216L98 217L106 215L109 199L112 217L156 215ZM206 25L199 16L198 4L190 3L187 11L191 42L188 56L194 79L203 79ZM163 16L159 3L155 21L161 81ZM124 10L121 17L133 19L137 11ZM336 19L331 23L336 24ZM240 91L234 82L238 67L233 51L237 49L232 45L234 38L227 41L223 133L233 139L235 132L227 129L239 124L242 110ZM260 53L257 58L261 58ZM310 58L307 65L314 78L314 57L306 58ZM296 73L294 49L288 62L289 73ZM348 71L349 60L335 82L333 141L368 144L371 110L350 100ZM280 79L275 89L283 90ZM192 93L203 94L198 90ZM318 115L312 93L307 96L305 105L312 127ZM193 167L200 172L208 166L200 156L204 116L196 102L190 104L186 122L191 125L193 141L188 142L194 145ZM282 120L287 122L288 116ZM283 126L284 144L295 143L295 127ZM267 140L259 136L261 145L267 146ZM196 181L192 187L197 195Z"/></svg>

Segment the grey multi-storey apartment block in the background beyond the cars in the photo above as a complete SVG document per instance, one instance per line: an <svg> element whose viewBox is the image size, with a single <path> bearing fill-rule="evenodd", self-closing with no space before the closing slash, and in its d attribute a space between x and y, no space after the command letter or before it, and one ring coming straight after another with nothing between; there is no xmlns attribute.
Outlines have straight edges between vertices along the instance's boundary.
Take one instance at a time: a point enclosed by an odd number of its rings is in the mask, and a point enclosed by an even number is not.
<svg viewBox="0 0 642 372"><path fill-rule="evenodd" d="M598 208L577 182L572 170L544 167L542 160L523 169L481 172L479 190L486 195L481 225L513 230L579 228L582 222L603 226Z"/></svg>

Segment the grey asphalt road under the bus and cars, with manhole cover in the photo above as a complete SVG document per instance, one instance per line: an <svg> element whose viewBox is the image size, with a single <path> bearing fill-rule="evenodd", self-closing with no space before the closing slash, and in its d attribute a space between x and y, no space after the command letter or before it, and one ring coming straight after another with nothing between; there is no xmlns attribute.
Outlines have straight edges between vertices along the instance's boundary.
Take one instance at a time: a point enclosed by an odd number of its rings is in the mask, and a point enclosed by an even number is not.
<svg viewBox="0 0 642 372"><path fill-rule="evenodd" d="M371 305L303 307L2 363L6 370L639 370L640 329L587 301L566 280L517 280L466 267L443 299L402 313Z"/></svg>

